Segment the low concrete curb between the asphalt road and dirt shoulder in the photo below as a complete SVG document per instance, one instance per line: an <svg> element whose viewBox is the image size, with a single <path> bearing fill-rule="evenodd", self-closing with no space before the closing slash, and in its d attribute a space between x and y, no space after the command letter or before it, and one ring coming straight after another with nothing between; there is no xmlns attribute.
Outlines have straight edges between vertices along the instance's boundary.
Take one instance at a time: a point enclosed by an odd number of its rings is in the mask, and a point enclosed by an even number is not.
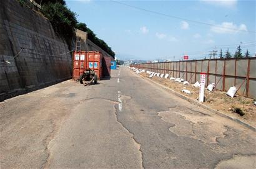
<svg viewBox="0 0 256 169"><path fill-rule="evenodd" d="M134 71L132 71L132 72L134 73ZM143 76L140 76L136 73L134 73L134 74L143 78L144 80L149 81L150 83L154 83L155 85L159 85L161 88L164 88L165 90L170 91L172 94L175 94L175 96L178 96L179 98L182 98L182 99L185 99L185 100L189 101L189 103L196 104L197 106L203 107L204 109L207 109L211 112L214 112L215 114L218 114L219 116L225 117L227 119L231 119L232 121L235 121L235 122L239 122L239 124L242 124L243 126L247 127L248 129L254 130L254 132L256 132L256 128L253 127L253 126L250 126L250 124L247 124L246 122L243 122L243 121L240 121L239 119L235 119L234 117L228 116L227 114L224 114L224 112L220 112L220 111L217 111L215 109L212 109L211 107L206 106L202 103L199 103L198 101L195 101L194 99L188 98L187 96L184 96L183 94L177 93L177 91L174 91L173 89L167 88L166 86L161 85L160 83L157 83L154 80L150 80L149 78L144 78Z"/></svg>

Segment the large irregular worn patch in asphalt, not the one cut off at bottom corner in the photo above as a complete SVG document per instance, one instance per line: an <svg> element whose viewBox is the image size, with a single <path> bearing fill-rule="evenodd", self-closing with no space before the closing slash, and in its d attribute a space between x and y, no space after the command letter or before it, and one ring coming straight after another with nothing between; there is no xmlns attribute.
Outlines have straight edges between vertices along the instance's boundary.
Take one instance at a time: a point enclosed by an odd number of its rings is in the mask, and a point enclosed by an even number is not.
<svg viewBox="0 0 256 169"><path fill-rule="evenodd" d="M159 112L158 115L163 121L175 124L169 128L170 132L205 143L217 143L216 139L225 137L224 132L227 130L225 123L220 119L188 107L170 108L169 111Z"/></svg>

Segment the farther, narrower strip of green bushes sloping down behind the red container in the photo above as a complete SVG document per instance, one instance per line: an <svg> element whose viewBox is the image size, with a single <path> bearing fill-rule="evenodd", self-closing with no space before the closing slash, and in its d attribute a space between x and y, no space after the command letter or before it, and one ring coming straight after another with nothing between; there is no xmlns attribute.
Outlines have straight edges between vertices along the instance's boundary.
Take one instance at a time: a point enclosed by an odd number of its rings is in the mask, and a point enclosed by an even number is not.
<svg viewBox="0 0 256 169"><path fill-rule="evenodd" d="M104 40L99 39L98 37L96 37L96 34L94 34L94 32L91 29L89 29L89 27L87 27L86 24L78 23L78 24L76 24L76 29L79 29L79 30L82 30L84 32L87 32L87 36L88 36L89 40L91 40L97 46L101 47L102 50L104 50L107 53L109 53L109 55L111 55L111 57L113 57L113 58L115 57L115 53L112 51L111 47L109 47L107 45L107 43L104 42Z"/></svg>

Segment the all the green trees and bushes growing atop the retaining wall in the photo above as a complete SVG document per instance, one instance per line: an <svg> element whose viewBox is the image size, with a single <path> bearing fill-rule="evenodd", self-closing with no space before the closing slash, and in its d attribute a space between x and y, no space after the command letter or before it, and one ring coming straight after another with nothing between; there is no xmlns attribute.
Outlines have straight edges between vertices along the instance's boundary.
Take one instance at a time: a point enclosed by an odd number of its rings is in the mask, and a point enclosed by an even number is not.
<svg viewBox="0 0 256 169"><path fill-rule="evenodd" d="M22 6L28 5L28 0L18 0ZM64 37L71 44L70 40L75 35L74 29L80 29L87 32L88 39L95 43L97 46L101 47L102 50L106 51L113 58L115 53L112 51L111 47L107 45L104 40L99 39L94 32L87 27L84 23L78 23L76 18L76 13L72 12L66 6L64 0L34 0L37 4L41 5L42 14L49 19L52 24L54 31ZM29 3L31 4L31 3Z"/></svg>

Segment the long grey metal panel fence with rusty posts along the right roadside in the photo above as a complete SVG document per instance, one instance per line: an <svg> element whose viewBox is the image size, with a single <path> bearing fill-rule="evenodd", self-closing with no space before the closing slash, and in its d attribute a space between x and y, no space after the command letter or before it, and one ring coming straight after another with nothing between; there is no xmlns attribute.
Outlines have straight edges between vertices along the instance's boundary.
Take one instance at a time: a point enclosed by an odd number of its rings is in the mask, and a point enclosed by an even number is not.
<svg viewBox="0 0 256 169"><path fill-rule="evenodd" d="M237 94L256 98L256 57L145 63L134 66L155 73L168 73L175 78L184 78L190 83L200 81L200 72L209 73L207 84L215 83L216 89L227 91L231 86L235 86L239 89Z"/></svg>

